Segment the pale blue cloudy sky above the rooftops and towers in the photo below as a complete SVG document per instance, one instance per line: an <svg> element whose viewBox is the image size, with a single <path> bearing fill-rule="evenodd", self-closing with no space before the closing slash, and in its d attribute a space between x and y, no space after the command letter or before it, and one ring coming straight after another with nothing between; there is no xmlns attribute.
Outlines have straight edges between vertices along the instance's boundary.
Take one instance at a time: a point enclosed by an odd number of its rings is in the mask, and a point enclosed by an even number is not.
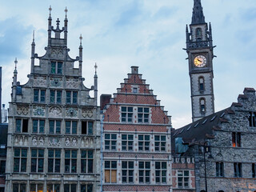
<svg viewBox="0 0 256 192"><path fill-rule="evenodd" d="M54 27L57 18L63 26L67 7L71 58L78 56L82 34L85 86L94 83L95 62L98 98L115 93L130 66L138 66L172 116L173 127L191 122L189 68L182 48L193 0L0 0L0 5L2 103L10 102L15 58L18 81L28 81L33 30L35 52L45 54L49 6ZM216 46L214 97L218 111L237 102L245 87L256 88L256 1L202 0L202 6Z"/></svg>

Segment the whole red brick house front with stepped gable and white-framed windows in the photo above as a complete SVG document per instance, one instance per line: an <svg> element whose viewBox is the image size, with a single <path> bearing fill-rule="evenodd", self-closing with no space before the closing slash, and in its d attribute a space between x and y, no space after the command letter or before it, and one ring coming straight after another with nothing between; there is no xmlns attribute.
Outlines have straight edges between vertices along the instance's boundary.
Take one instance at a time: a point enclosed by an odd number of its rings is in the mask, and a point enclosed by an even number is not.
<svg viewBox="0 0 256 192"><path fill-rule="evenodd" d="M137 66L103 113L103 190L170 191L170 116Z"/></svg>

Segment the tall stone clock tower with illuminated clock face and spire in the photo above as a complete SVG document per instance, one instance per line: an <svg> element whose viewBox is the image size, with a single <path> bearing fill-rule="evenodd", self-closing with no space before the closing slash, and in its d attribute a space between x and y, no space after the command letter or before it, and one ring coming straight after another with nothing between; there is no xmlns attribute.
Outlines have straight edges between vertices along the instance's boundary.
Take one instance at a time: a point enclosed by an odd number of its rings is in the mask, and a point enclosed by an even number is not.
<svg viewBox="0 0 256 192"><path fill-rule="evenodd" d="M192 22L186 26L193 122L214 113L213 50L210 23L205 22L201 0L194 0Z"/></svg>

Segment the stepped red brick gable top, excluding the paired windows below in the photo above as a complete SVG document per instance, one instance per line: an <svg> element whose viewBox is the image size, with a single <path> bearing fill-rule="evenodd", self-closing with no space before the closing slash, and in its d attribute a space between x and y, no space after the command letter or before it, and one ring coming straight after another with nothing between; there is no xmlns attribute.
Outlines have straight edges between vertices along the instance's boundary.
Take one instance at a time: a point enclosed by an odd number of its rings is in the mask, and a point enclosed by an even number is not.
<svg viewBox="0 0 256 192"><path fill-rule="evenodd" d="M128 78L124 79L121 87L117 89L117 93L113 94L110 102L104 107L104 122L120 122L120 112L116 110L118 106L151 106L152 116L151 123L168 124L170 116L167 111L160 105L160 100L150 90L150 85L146 84L146 80L142 78L142 74L138 74L138 66L131 66L131 73ZM163 118L160 118L163 117Z"/></svg>

